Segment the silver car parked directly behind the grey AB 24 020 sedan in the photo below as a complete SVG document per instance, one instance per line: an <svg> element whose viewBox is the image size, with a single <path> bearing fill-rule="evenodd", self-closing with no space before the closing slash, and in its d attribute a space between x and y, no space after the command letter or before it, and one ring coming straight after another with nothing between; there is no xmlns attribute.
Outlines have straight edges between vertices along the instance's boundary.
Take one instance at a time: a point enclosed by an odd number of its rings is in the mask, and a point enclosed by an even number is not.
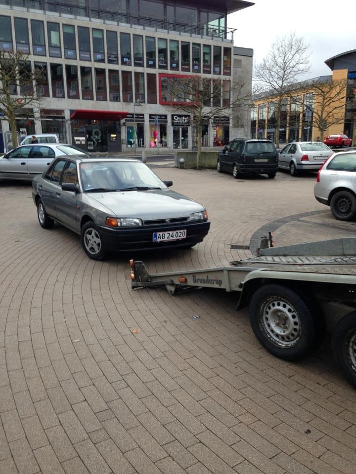
<svg viewBox="0 0 356 474"><path fill-rule="evenodd" d="M22 145L0 158L0 180L32 181L34 176L42 174L48 168L55 157L61 155L86 156L79 148L63 143Z"/></svg>

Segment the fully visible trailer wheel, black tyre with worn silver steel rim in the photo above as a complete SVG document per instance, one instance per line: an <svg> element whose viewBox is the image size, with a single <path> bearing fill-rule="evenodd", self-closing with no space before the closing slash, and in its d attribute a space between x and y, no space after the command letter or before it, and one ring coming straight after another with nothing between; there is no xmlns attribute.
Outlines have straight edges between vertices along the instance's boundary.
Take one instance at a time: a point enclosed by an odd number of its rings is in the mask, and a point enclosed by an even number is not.
<svg viewBox="0 0 356 474"><path fill-rule="evenodd" d="M321 313L302 292L282 285L265 285L251 298L250 321L255 336L273 356L299 359L315 344Z"/></svg>

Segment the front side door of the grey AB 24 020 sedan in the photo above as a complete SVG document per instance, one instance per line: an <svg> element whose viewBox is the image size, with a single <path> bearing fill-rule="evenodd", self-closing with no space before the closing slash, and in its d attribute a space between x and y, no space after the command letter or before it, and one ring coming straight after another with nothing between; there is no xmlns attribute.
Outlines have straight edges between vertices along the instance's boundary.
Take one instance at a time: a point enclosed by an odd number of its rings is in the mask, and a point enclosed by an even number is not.
<svg viewBox="0 0 356 474"><path fill-rule="evenodd" d="M71 160L67 160L60 185L69 183L77 185L79 190L77 164ZM79 229L77 222L77 197L77 193L61 189L60 196L57 196L56 200L56 218L58 222L76 232Z"/></svg>

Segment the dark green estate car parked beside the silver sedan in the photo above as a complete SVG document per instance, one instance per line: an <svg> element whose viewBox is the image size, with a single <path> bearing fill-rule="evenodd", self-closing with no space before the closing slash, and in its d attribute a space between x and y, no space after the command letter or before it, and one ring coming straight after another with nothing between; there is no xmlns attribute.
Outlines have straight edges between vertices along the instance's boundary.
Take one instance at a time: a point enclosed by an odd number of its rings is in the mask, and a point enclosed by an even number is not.
<svg viewBox="0 0 356 474"><path fill-rule="evenodd" d="M228 171L234 178L246 173L267 174L274 178L278 153L270 140L235 138L218 153L217 170Z"/></svg>

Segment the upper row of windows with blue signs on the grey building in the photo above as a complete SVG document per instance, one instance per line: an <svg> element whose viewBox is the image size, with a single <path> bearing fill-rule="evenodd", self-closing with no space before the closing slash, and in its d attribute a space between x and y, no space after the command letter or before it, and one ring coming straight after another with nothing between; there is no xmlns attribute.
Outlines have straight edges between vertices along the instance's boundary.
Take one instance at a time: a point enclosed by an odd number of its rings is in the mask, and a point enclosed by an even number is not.
<svg viewBox="0 0 356 474"><path fill-rule="evenodd" d="M40 20L31 20L32 50L34 55L46 56L45 24ZM46 22L48 55L62 57L60 24ZM189 41L167 40L142 35L131 35L116 31L78 26L77 36L74 25L62 25L64 57L82 61L108 62L125 66L170 69L195 73L231 74L231 47L210 46L190 43ZM30 53L29 28L26 18L14 18L16 50ZM105 55L106 42L106 55ZM120 55L119 55L120 43ZM0 15L0 49L14 49L12 43L11 17Z"/></svg>

